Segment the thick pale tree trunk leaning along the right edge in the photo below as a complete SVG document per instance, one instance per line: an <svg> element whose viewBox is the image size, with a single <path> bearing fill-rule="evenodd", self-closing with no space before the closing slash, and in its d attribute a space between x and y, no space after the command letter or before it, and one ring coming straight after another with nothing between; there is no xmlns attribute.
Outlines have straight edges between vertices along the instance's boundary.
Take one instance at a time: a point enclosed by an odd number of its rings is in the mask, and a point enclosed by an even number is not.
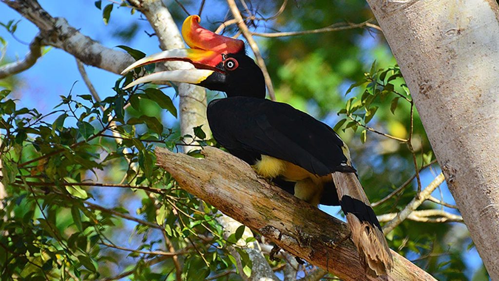
<svg viewBox="0 0 499 281"><path fill-rule="evenodd" d="M499 279L499 9L493 0L367 0L492 279Z"/></svg>

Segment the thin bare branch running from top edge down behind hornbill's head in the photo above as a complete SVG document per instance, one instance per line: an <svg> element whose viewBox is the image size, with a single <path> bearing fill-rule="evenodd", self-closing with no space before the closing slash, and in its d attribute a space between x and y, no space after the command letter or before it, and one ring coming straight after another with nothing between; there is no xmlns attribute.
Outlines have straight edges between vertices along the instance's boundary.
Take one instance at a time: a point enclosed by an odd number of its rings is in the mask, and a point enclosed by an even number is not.
<svg viewBox="0 0 499 281"><path fill-rule="evenodd" d="M238 24L239 29L245 36L246 40L248 40L248 44L250 44L250 47L253 50L254 56L256 57L256 62L258 62L258 65L260 66L261 71L263 72L263 77L265 78L265 84L267 85L268 95L270 96L270 99L275 100L274 86L272 85L272 80L270 79L270 75L268 74L265 61L261 56L260 49L258 48L256 41L253 39L253 36L250 30L248 29L248 26L246 26L246 23L243 19L243 16L241 15L241 12L239 11L236 2L234 0L227 0L227 3L231 8L232 14L234 16L234 19L236 19L236 23Z"/></svg>

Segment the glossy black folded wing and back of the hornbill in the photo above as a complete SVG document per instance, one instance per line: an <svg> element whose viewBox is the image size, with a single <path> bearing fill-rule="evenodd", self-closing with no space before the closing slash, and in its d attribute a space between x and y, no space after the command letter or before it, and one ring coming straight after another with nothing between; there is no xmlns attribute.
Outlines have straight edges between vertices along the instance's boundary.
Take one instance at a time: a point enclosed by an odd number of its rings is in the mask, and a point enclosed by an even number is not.
<svg viewBox="0 0 499 281"><path fill-rule="evenodd" d="M354 171L336 132L286 103L235 96L210 102L207 114L215 139L250 164L264 154L318 175Z"/></svg>

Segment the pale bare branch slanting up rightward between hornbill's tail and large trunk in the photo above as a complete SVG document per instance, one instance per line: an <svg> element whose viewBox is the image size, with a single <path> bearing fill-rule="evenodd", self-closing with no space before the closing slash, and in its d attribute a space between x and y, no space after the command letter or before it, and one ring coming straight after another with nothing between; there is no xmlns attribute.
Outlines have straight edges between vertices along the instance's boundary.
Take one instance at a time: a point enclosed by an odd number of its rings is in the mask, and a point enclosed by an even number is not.
<svg viewBox="0 0 499 281"><path fill-rule="evenodd" d="M428 199L432 192L444 182L445 177L440 173L435 179L426 186L421 192L414 197L409 204L407 204L397 215L383 226L383 232L388 233L392 231L397 225L404 221L415 209L417 209L426 199Z"/></svg>

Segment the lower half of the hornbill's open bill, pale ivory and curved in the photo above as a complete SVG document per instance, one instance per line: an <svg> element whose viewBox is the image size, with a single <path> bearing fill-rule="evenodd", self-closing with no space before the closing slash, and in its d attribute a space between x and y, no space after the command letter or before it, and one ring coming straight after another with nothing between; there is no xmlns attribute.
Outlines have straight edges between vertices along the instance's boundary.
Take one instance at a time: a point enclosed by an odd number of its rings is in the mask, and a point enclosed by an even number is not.
<svg viewBox="0 0 499 281"><path fill-rule="evenodd" d="M208 76L213 74L213 70L208 69L182 69L182 70L170 70L152 73L146 76L142 76L130 84L126 85L123 89L133 87L135 85L153 81L174 81L190 84L198 84L205 80Z"/></svg>

